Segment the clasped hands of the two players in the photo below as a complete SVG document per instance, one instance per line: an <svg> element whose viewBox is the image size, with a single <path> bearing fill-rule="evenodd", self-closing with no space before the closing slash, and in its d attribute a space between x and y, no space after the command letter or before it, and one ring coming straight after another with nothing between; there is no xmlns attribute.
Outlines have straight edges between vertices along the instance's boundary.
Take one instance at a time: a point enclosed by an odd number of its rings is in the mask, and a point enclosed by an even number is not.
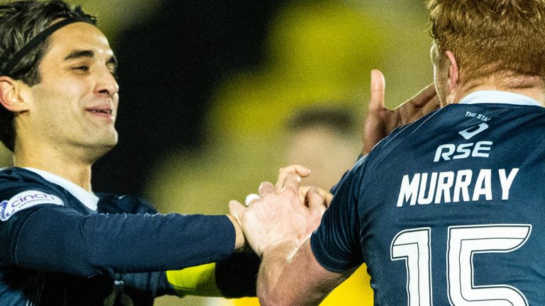
<svg viewBox="0 0 545 306"><path fill-rule="evenodd" d="M317 187L300 186L301 178L309 174L304 166L287 166L280 169L276 185L261 183L259 195L249 195L246 206L236 200L229 203L246 244L258 256L270 246L301 244L320 224L333 195Z"/></svg>

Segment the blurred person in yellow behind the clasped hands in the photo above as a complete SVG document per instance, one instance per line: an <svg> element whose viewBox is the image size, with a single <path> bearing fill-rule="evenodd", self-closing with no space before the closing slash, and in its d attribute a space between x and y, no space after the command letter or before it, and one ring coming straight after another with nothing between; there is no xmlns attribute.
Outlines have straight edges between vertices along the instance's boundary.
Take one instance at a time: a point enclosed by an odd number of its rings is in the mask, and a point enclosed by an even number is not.
<svg viewBox="0 0 545 306"><path fill-rule="evenodd" d="M302 164L311 169L312 174L303 180L304 185L329 189L356 162L361 145L356 133L359 122L353 113L349 108L310 107L303 108L290 118L287 123L285 165ZM373 290L365 270L363 264L321 305L372 306ZM243 298L233 304L259 305L257 298Z"/></svg>

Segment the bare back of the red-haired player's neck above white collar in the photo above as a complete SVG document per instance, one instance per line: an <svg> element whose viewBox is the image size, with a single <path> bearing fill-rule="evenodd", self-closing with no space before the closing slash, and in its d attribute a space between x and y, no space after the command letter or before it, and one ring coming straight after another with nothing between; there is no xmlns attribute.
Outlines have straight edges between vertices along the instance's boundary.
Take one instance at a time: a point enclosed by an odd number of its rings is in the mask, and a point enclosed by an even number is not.
<svg viewBox="0 0 545 306"><path fill-rule="evenodd" d="M446 97L446 103L459 103L465 96L475 91L510 91L533 98L545 106L545 84L539 77L520 77L510 79L488 79L487 81L467 81L459 84Z"/></svg>

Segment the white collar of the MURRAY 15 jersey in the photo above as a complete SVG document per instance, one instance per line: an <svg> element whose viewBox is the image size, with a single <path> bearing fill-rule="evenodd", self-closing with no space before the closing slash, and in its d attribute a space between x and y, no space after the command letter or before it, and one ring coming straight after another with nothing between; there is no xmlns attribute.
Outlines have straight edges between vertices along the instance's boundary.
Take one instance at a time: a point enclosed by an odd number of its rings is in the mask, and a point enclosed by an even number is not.
<svg viewBox="0 0 545 306"><path fill-rule="evenodd" d="M463 97L459 104L478 104L478 103L502 103L514 104L519 106L541 106L529 96L515 94L510 91L474 91Z"/></svg>

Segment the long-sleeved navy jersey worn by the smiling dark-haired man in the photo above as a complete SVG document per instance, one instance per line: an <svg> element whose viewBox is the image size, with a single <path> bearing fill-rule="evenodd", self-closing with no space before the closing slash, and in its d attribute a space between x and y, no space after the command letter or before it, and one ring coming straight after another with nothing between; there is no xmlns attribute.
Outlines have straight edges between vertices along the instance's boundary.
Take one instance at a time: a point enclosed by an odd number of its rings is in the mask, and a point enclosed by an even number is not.
<svg viewBox="0 0 545 306"><path fill-rule="evenodd" d="M163 271L233 252L226 216L160 215L130 196L93 203L35 171L0 171L0 305L153 305L175 293Z"/></svg>

